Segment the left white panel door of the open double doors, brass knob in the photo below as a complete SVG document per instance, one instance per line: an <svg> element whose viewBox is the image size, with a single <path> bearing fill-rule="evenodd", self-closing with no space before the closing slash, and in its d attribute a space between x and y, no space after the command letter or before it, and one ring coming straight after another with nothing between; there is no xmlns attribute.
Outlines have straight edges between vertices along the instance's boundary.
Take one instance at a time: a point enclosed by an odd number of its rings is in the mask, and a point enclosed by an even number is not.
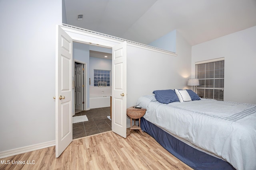
<svg viewBox="0 0 256 170"><path fill-rule="evenodd" d="M56 27L56 158L72 142L72 38Z"/></svg>

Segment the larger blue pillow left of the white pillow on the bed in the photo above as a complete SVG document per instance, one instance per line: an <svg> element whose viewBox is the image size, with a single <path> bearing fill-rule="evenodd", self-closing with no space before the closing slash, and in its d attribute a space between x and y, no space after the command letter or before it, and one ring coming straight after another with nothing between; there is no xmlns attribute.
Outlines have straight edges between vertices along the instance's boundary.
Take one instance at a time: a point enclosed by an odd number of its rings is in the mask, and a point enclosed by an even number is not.
<svg viewBox="0 0 256 170"><path fill-rule="evenodd" d="M155 90L153 92L158 102L168 104L172 102L180 102L174 90Z"/></svg>

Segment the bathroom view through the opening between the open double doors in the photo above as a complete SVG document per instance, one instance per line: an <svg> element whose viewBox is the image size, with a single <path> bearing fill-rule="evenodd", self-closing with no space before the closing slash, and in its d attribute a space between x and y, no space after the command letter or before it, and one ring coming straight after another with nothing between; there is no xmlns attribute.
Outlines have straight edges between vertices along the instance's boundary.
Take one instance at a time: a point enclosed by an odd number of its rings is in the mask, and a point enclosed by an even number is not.
<svg viewBox="0 0 256 170"><path fill-rule="evenodd" d="M74 43L73 43L74 44ZM95 135L98 133L103 133L112 130L112 122L108 118L110 117L110 96L111 96L111 70L112 70L112 48L105 47L95 47L93 45L75 43L73 48L79 49L79 55L74 54L74 105L76 116L84 116L88 118L88 121L74 123L72 125L73 129L73 139L78 139L81 137L86 137L90 135ZM84 49L84 53L82 52ZM86 50L89 51L89 55L86 56ZM86 56L87 60L81 56ZM80 57L78 59L78 57ZM88 65L83 67L81 61L87 61ZM108 73L94 75L98 70L109 70ZM89 81L82 80L89 79ZM106 87L96 86L98 82L106 81ZM82 84L84 82L84 84ZM86 86L88 90L82 88ZM79 89L80 88L80 89ZM84 104L82 102L82 96L87 94L86 102L88 107L82 107ZM108 96L108 97L107 97ZM98 105L95 107L93 102L97 102ZM106 101L108 100L108 101ZM108 106L108 105L109 106ZM85 104L84 104L85 105Z"/></svg>

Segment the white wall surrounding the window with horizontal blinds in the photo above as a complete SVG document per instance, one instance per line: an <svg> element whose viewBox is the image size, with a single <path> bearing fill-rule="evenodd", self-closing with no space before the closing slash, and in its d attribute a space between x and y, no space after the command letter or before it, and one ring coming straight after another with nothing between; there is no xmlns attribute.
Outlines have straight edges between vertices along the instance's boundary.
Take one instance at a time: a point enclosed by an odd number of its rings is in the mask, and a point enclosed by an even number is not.
<svg viewBox="0 0 256 170"><path fill-rule="evenodd" d="M192 47L195 62L225 57L224 100L256 104L256 26Z"/></svg>

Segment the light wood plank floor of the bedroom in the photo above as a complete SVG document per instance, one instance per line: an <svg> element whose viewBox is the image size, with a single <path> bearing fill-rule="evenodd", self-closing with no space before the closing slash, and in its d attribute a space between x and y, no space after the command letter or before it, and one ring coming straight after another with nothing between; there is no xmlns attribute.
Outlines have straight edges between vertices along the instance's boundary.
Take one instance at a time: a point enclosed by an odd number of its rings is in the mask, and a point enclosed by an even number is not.
<svg viewBox="0 0 256 170"><path fill-rule="evenodd" d="M25 164L14 162L18 160ZM55 147L48 147L0 161L0 170L192 170L139 131L126 139L112 131L76 139L59 158Z"/></svg>

